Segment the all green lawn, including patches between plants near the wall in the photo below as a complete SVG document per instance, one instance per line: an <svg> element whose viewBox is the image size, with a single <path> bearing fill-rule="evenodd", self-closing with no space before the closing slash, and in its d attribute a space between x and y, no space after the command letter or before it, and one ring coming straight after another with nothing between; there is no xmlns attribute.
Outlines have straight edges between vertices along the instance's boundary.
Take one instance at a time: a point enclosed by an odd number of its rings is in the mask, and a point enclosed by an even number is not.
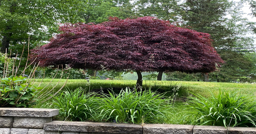
<svg viewBox="0 0 256 134"><path fill-rule="evenodd" d="M39 79L38 81L40 81ZM51 79L44 79L41 83L40 87L46 87L47 84L51 81ZM59 82L59 83L58 83ZM50 89L54 86L55 87L53 92L49 94L56 93L63 86L66 82L65 79L59 81L59 79L54 79L50 83ZM36 82L39 84L40 82ZM67 81L65 89L69 89L74 91L75 89L82 87L83 89L100 89L100 88L126 88L130 87L133 88L136 84L136 80L90 80L88 83L86 80L83 79L70 79ZM194 94L200 94L205 97L210 97L211 93L218 94L219 89L222 91L241 91L242 94L250 94L255 96L256 93L256 84L247 84L247 83L217 83L217 82L190 82L190 81L143 81L143 88L152 89L160 89L161 92L164 91L172 91L173 87L180 85L179 88L179 96L187 96L188 92L192 92ZM159 91L159 90L158 90ZM187 92L188 91L188 92ZM167 96L167 95L166 95ZM41 100L39 101L41 102ZM51 105L52 99L48 100L44 103L39 103L36 108L55 108ZM165 123L167 124L190 124L191 121L193 122L194 119L187 118L184 115L184 109L179 107L183 105L180 101L177 100L175 102L175 106L171 109L168 114L167 120ZM185 117L185 118L184 118Z"/></svg>

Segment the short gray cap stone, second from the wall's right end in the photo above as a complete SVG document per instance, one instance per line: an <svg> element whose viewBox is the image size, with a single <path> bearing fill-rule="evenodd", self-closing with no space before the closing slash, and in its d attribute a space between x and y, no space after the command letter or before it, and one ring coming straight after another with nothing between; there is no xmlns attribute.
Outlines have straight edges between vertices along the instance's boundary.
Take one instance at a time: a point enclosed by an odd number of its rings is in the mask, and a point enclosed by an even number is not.
<svg viewBox="0 0 256 134"><path fill-rule="evenodd" d="M222 126L194 126L193 134L228 134Z"/></svg>

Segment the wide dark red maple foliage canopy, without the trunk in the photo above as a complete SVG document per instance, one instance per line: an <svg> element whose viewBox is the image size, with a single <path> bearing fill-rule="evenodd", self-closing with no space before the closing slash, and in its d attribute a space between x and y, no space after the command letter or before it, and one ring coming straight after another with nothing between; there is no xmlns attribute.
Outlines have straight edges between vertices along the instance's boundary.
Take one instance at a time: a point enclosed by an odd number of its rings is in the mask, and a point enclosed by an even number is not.
<svg viewBox="0 0 256 134"><path fill-rule="evenodd" d="M223 60L210 35L154 17L66 24L50 43L31 50L40 66L136 71L211 72Z"/></svg>

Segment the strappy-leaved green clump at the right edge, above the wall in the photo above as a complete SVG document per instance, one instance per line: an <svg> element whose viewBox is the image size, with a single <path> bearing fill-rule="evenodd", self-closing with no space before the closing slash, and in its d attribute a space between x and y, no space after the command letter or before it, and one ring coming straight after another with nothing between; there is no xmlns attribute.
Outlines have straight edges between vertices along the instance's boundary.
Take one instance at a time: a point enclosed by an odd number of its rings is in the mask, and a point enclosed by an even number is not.
<svg viewBox="0 0 256 134"><path fill-rule="evenodd" d="M189 99L185 113L195 118L196 125L256 127L256 101L252 96L220 90L210 99L199 94Z"/></svg>

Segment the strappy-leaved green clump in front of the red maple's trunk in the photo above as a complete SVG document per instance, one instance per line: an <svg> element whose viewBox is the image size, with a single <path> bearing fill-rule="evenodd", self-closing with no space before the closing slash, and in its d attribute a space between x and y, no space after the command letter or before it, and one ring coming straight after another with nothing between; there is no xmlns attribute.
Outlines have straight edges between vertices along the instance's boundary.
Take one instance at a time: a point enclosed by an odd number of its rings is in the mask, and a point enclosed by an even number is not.
<svg viewBox="0 0 256 134"><path fill-rule="evenodd" d="M166 119L170 108L163 94L145 90L137 92L126 88L119 94L104 94L99 103L100 119L129 123L159 123Z"/></svg>

